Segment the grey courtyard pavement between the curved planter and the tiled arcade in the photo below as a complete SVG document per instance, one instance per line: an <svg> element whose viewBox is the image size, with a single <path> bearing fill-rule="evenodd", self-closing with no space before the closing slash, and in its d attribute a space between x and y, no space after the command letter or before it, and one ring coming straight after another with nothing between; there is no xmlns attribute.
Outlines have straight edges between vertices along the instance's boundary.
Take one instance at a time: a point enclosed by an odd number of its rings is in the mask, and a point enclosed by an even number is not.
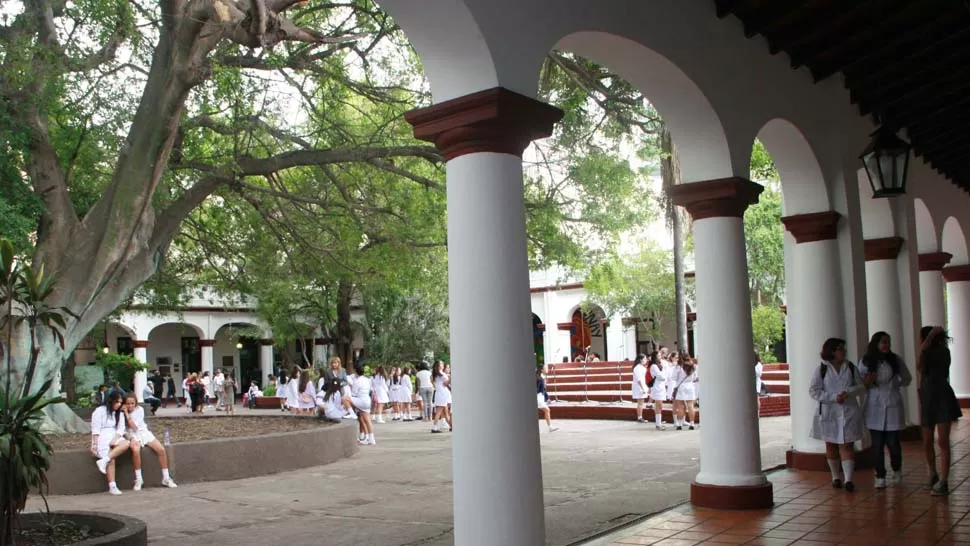
<svg viewBox="0 0 970 546"><path fill-rule="evenodd" d="M257 412L241 411L252 413ZM699 431L661 432L624 421L554 424L558 431L540 435L549 544L572 544L688 499ZM452 544L450 434L430 434L420 421L376 425L376 434L376 446L362 446L359 455L326 466L125 491L121 497L103 493L48 501L54 510L139 518L154 545L199 539L209 546ZM784 463L790 438L788 417L761 419L765 468ZM40 498L31 497L28 510L40 507Z"/></svg>

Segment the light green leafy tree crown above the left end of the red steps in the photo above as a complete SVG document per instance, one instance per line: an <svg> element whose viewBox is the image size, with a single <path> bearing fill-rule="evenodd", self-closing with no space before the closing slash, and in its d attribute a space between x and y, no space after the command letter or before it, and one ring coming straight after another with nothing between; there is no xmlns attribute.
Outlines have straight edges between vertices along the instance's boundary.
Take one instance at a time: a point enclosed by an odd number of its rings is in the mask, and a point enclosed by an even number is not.
<svg viewBox="0 0 970 546"><path fill-rule="evenodd" d="M665 320L674 314L673 255L655 244L643 246L634 256L614 256L594 265L584 286L591 303L608 315L643 319L654 337L660 336Z"/></svg>

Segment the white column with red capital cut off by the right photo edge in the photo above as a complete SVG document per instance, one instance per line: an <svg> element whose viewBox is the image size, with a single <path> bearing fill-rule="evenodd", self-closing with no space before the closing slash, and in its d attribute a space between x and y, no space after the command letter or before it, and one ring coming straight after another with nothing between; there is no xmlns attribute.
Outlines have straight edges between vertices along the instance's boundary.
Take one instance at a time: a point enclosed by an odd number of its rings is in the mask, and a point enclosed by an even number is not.
<svg viewBox="0 0 970 546"><path fill-rule="evenodd" d="M957 398L970 398L970 265L943 269L946 279L947 334L950 345L950 385Z"/></svg>

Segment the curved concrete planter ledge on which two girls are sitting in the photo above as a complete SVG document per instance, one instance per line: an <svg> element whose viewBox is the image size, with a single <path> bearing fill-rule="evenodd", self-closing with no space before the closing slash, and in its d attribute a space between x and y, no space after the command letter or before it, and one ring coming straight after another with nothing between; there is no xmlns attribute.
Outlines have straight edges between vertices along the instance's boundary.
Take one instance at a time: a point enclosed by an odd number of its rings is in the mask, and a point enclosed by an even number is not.
<svg viewBox="0 0 970 546"><path fill-rule="evenodd" d="M287 418L292 419L264 417ZM218 419L213 419L212 423L218 426ZM168 461L172 477L181 485L319 466L350 457L359 450L357 421L345 421L294 432L176 444L168 447ZM131 456L122 455L115 464L118 487L131 489L134 485ZM158 457L150 449L142 450L142 473L146 487L161 486ZM98 472L94 458L85 449L55 451L47 480L50 484L48 494L51 495L81 495L107 490L104 475Z"/></svg>

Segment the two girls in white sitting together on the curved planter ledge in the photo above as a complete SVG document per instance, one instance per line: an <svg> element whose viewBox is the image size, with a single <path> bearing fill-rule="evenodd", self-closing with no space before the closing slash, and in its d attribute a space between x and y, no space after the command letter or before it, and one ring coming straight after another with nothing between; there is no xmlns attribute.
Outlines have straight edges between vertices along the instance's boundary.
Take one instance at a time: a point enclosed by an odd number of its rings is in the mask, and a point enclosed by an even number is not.
<svg viewBox="0 0 970 546"><path fill-rule="evenodd" d="M138 404L134 393L121 394L111 391L105 403L98 406L91 415L91 454L97 459L95 464L108 479L108 492L120 495L121 490L115 481L115 460L131 451L135 467L135 491L140 491L145 481L141 472L141 450L149 448L158 455L162 467L162 485L177 487L168 472L168 456L165 446L148 430L145 423L145 409Z"/></svg>

